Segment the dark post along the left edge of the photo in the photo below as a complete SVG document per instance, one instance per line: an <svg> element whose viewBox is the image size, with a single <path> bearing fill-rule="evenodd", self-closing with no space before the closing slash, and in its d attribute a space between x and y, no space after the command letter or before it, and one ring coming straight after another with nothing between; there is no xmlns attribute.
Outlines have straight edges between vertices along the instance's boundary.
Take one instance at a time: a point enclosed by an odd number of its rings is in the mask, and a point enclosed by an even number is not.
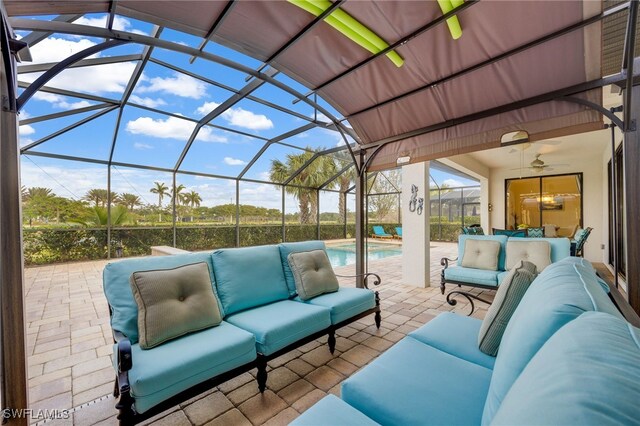
<svg viewBox="0 0 640 426"><path fill-rule="evenodd" d="M4 28L3 28L4 30ZM6 37L6 34L2 34ZM3 43L4 44L4 43ZM3 45L3 48L5 46ZM2 408L29 407L27 348L24 317L24 260L22 257L22 206L18 116L7 96L8 64L0 64L0 344L2 345ZM15 93L15 89L13 91ZM7 420L11 425L28 425L27 417Z"/></svg>

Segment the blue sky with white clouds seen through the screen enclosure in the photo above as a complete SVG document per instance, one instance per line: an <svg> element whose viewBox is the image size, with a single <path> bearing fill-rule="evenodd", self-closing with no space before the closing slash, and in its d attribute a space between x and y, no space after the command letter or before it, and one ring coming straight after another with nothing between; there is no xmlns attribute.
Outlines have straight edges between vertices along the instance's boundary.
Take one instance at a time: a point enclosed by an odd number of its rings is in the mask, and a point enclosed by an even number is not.
<svg viewBox="0 0 640 426"><path fill-rule="evenodd" d="M38 17L37 19L51 18ZM75 22L103 27L106 15L86 15ZM116 17L114 28L144 34L149 34L152 29L151 25L147 23L123 17ZM20 36L25 34L19 33ZM198 47L201 41L197 37L168 29L163 30L161 38L191 47ZM96 38L55 34L32 46L31 52L34 63L56 62L102 41L102 39ZM210 42L205 50L254 69L261 65L255 59L213 42ZM125 45L101 52L94 57L141 52L142 46ZM243 73L202 59L197 59L193 64L190 64L188 55L154 49L152 58L202 75L232 89L238 90L247 84L246 75ZM48 86L119 100L135 66L135 62L124 62L67 69L49 82ZM38 75L21 74L19 80L31 82ZM299 92L304 93L308 90L283 74L279 74L276 79ZM185 147L186 140L195 127L193 120L201 119L232 94L233 92L230 90L178 73L153 61L149 62L130 101L149 108L164 110L172 115L160 114L134 106L125 107L118 128L114 161L173 168ZM304 117L314 116L314 110L311 106L304 102L293 104L292 95L270 84L262 85L252 93L252 96L281 105ZM39 92L28 102L25 110L21 113L21 119L73 110L97 103L93 100ZM340 116L326 102L322 101L322 104L332 114ZM91 111L23 125L20 127L21 146L38 141L96 112ZM116 118L117 110L46 141L34 149L46 153L107 160ZM247 135L211 126L203 127L181 169L220 176L238 176L264 145L265 140L296 129L307 122L303 118L283 113L253 100L243 99L216 117L211 121L211 124L240 131ZM301 149L307 147L319 150L332 148L343 143L338 133L324 128L315 128L283 142L300 149L274 144L256 161L245 176L268 181L268 171L272 160L284 160L287 154L302 152ZM112 172L113 190L136 193L148 202L157 203L157 198L149 193L154 181L162 181L167 185L171 183L171 174L169 173L124 167L116 169ZM37 156L23 157L22 160L23 185L51 187L58 195L71 198L81 197L90 188L106 187L106 174L106 167L101 165ZM233 180L188 175L178 176L178 183L184 184L189 190L194 189L201 193L205 205L217 205L235 200L235 181ZM453 186L456 183L470 183L438 171L433 171L432 176L439 182L449 179L450 183L454 183ZM241 203L281 208L280 188L273 185L242 183L240 198ZM323 211L337 211L337 196L330 193L323 195L321 206ZM287 196L286 210L293 212L296 209L295 200L291 196Z"/></svg>

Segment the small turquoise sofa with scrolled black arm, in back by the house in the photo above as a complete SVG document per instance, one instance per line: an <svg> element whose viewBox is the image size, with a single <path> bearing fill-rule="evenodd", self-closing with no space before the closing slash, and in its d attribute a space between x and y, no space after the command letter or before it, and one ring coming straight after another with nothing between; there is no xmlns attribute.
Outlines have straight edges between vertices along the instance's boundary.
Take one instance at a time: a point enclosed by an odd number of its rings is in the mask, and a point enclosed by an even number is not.
<svg viewBox="0 0 640 426"><path fill-rule="evenodd" d="M466 241L468 240L481 240L481 241L497 241L500 243L500 251L498 253L497 270L485 270L467 268L462 266L462 259L465 254ZM540 241L547 241L550 246L550 260L551 263L558 262L559 260L569 257L571 242L568 238L522 238L522 237L508 237L506 235L465 235L461 234L458 237L458 257L456 259L449 259L443 257L440 264L444 266L444 269L440 273L440 291L442 294L445 292L445 285L455 284L458 287L468 286L485 288L489 290L495 290L502 282L502 279L509 273L506 270L507 262L507 244L509 241L516 242L518 244L524 243L539 243ZM532 246L533 247L533 246ZM526 253L524 254L526 256ZM525 257L526 258L526 257ZM456 262L455 265L450 265L450 262ZM451 306L455 306L457 301L455 296L460 295L471 304L471 312L475 310L473 300L479 300L481 302L491 304L491 301L485 300L477 295L468 291L452 290L447 294L447 303Z"/></svg>

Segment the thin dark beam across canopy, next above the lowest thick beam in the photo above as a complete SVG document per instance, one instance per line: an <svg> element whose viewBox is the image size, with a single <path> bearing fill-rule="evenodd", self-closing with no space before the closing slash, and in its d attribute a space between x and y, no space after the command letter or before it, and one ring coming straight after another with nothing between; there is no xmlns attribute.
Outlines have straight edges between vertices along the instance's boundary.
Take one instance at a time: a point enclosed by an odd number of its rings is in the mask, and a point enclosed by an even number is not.
<svg viewBox="0 0 640 426"><path fill-rule="evenodd" d="M628 7L629 7L629 2L620 4L620 5L615 6L615 7L612 7L610 9L605 10L604 12L602 12L599 15L595 15L595 16L593 16L591 18L585 19L584 21L580 21L580 22L577 22L577 23L575 23L573 25L569 25L566 28L563 28L563 29L558 30L558 31L554 31L554 32L552 32L550 34L547 34L547 35L545 35L543 37L540 37L540 38L538 38L536 40L533 40L533 41L530 41L528 43L522 44L522 45L520 45L520 46L518 46L516 48L507 50L506 52L503 52L503 53L501 53L501 54L499 54L497 56L494 56L493 58L487 59L486 61L482 61L482 62L480 62L480 63L478 63L476 65L472 65L472 66L470 66L468 68L465 68L463 70L460 70L458 72L450 74L450 75L448 75L446 77L443 77L441 79L438 79L436 81L432 81L431 83L426 84L424 86L417 87L415 89L409 90L408 92L402 93L400 95L394 96L394 97L392 97L390 99L387 99L385 101L379 102L379 103L377 103L375 105L363 108L363 109L361 109L359 111L356 111L356 112L354 112L352 114L349 114L345 118L348 120L348 119L350 119L352 117L355 117L357 115L363 114L363 113L365 113L367 111L371 111L373 109L380 108L380 107L382 107L384 105L399 101L401 99L404 99L404 98L409 97L411 95L414 95L416 93L419 93L419 92L422 92L422 91L425 91L425 90L429 90L429 89L431 89L433 87L436 87L438 85L444 84L444 83L446 83L448 81L454 80L456 78L462 77L462 76L464 76L466 74L469 74L471 72L477 71L477 70L479 70L481 68L484 68L486 66L492 65L492 64L494 64L496 62L499 62L499 61L501 61L501 60L503 60L505 58L508 58L508 57L516 55L518 53L524 52L525 50L528 50L528 49L531 49L533 47L539 46L539 45L541 45L543 43L546 43L546 42L548 42L550 40L553 40L555 38L561 37L563 35L566 35L568 33L573 32L573 31L579 30L581 28L584 28L584 27L586 27L588 25L591 25L591 24L594 24L596 22L599 22L599 21L603 20L604 18L606 18L608 16L611 16L611 15L614 15L614 14L617 14L617 13L620 13L620 12L626 10Z"/></svg>

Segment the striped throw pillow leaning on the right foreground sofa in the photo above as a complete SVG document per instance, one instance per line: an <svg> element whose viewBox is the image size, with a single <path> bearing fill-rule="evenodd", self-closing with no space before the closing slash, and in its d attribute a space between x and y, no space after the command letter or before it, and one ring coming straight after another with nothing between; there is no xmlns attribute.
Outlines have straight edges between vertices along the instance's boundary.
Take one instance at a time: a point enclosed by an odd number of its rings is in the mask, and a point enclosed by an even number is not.
<svg viewBox="0 0 640 426"><path fill-rule="evenodd" d="M519 261L504 277L480 327L478 347L482 352L491 356L498 354L500 341L511 315L535 277L536 265L527 261Z"/></svg>

